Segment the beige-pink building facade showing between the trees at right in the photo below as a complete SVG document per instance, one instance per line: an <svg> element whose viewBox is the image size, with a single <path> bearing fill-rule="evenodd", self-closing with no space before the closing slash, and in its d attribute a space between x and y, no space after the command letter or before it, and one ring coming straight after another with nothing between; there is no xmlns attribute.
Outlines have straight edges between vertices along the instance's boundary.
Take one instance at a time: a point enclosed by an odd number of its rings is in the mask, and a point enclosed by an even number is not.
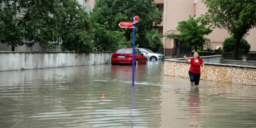
<svg viewBox="0 0 256 128"><path fill-rule="evenodd" d="M171 33L179 34L176 30L179 21L187 21L189 16L199 17L207 12L206 5L202 0L155 0L157 7L163 11L163 23L156 26L159 35L168 35ZM222 45L225 38L229 38L230 34L225 29L215 28L213 32L205 36L211 41L213 50L217 46ZM250 53L256 54L256 28L249 31L249 35L245 38L251 45ZM176 48L176 40L163 38L164 54L172 55Z"/></svg>

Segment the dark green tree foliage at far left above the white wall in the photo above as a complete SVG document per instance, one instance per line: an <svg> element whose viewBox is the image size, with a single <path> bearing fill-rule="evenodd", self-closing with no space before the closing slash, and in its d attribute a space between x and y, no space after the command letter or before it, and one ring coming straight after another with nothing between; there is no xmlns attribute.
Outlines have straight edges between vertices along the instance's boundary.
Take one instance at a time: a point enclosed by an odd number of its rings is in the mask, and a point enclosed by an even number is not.
<svg viewBox="0 0 256 128"><path fill-rule="evenodd" d="M24 45L24 38L29 38L28 47L39 42L43 48L54 47L48 41L56 38L57 19L50 15L57 14L59 5L53 0L1 0L0 3L0 42L17 47ZM50 15L49 15L50 14Z"/></svg>

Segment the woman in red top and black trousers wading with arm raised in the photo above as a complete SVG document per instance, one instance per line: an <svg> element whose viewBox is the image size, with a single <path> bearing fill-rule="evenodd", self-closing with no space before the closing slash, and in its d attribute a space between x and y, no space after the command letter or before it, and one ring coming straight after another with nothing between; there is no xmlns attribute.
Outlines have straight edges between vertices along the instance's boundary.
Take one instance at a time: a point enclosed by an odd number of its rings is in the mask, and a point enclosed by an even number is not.
<svg viewBox="0 0 256 128"><path fill-rule="evenodd" d="M183 57L187 63L190 63L189 77L191 86L194 86L194 83L195 86L198 86L200 75L204 71L204 62L200 58L200 54L198 52L194 52L194 57L191 57L190 59L187 59L186 55L183 55Z"/></svg>

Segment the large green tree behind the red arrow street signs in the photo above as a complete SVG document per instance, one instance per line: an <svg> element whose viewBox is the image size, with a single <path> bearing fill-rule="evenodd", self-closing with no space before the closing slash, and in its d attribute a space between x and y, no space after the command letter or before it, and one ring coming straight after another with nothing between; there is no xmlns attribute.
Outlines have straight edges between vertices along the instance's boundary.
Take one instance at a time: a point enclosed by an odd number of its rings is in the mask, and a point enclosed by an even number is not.
<svg viewBox="0 0 256 128"><path fill-rule="evenodd" d="M152 30L154 25L163 20L163 13L156 10L154 0L97 0L90 15L93 22L109 23L109 30L125 32L127 41L131 40L133 29L123 29L118 26L121 21L132 22L133 15L138 15L140 20L136 23L136 42L144 40L146 32ZM148 43L148 42L145 42Z"/></svg>

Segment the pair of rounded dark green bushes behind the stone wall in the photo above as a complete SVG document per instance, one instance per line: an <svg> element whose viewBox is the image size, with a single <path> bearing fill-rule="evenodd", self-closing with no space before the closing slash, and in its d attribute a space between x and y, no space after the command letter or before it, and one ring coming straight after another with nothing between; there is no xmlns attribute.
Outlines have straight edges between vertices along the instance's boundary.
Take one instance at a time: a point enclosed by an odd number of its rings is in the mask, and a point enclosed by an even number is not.
<svg viewBox="0 0 256 128"><path fill-rule="evenodd" d="M235 52L235 44L236 40L232 37L226 38L224 43L223 43L223 52ZM242 39L240 40L239 43L239 53L249 53L251 48L251 45L245 40Z"/></svg>

